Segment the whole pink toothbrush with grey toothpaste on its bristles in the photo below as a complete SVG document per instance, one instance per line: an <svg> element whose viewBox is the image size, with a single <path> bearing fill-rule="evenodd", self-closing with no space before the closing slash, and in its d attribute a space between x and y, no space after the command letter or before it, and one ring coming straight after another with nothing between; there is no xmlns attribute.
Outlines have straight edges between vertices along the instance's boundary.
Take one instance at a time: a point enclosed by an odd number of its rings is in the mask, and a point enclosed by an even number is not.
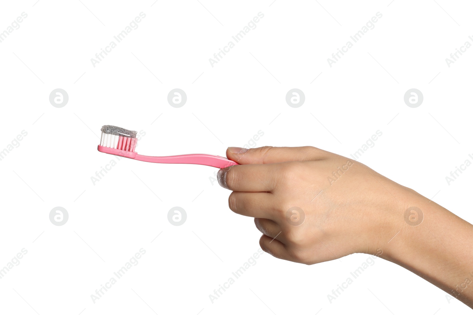
<svg viewBox="0 0 473 315"><path fill-rule="evenodd" d="M224 169L238 163L228 160L222 156L210 154L184 154L173 156L148 156L135 152L136 131L105 125L101 129L102 137L97 150L103 153L123 156L143 162L152 163L178 163L178 164L200 164Z"/></svg>

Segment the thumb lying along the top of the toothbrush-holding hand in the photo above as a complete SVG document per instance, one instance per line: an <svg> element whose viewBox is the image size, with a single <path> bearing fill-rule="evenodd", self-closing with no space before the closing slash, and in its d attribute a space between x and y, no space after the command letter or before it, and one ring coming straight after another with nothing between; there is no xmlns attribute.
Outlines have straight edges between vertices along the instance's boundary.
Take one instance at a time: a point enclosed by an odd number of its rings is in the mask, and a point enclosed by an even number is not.
<svg viewBox="0 0 473 315"><path fill-rule="evenodd" d="M227 158L238 164L270 164L289 161L322 160L327 154L327 151L313 146L262 146L251 149L230 146L227 149Z"/></svg>

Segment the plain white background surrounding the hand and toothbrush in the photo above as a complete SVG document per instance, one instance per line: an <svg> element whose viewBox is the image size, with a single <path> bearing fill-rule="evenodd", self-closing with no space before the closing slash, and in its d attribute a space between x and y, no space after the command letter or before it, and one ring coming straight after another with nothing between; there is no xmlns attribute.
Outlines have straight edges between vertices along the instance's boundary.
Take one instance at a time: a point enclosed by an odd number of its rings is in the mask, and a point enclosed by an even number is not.
<svg viewBox="0 0 473 315"><path fill-rule="evenodd" d="M105 124L143 130L137 151L148 155L224 155L250 144L349 156L380 130L359 161L472 222L473 167L445 179L472 160L473 48L450 68L445 61L472 43L471 3L153 2L2 1L0 32L28 15L0 43L0 150L27 132L0 161L0 268L27 250L0 279L2 314L469 312L380 258L330 303L361 254L311 266L263 254L211 303L260 237L252 218L228 209L216 169L122 159L95 185L91 177L114 159L96 151ZM94 68L90 59L140 12L139 27ZM258 12L257 27L212 68L209 58ZM375 28L329 67L377 12ZM49 102L56 88L69 94L62 108ZM167 103L174 88L187 94L181 108ZM285 101L292 88L306 96L299 108ZM403 101L411 88L424 96L418 108ZM56 206L69 213L63 226L49 221ZM167 221L174 206L187 213L181 226ZM139 264L93 303L140 248Z"/></svg>

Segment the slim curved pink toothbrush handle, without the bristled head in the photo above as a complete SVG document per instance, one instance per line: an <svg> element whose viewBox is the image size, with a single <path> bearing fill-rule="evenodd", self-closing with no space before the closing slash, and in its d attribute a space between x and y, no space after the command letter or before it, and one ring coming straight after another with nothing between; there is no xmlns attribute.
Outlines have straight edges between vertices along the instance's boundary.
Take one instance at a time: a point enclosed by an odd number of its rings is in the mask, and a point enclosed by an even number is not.
<svg viewBox="0 0 473 315"><path fill-rule="evenodd" d="M224 169L238 163L228 160L222 156L210 154L184 154L173 156L148 156L136 154L134 158L138 161L151 163L171 163L171 164L200 164Z"/></svg>

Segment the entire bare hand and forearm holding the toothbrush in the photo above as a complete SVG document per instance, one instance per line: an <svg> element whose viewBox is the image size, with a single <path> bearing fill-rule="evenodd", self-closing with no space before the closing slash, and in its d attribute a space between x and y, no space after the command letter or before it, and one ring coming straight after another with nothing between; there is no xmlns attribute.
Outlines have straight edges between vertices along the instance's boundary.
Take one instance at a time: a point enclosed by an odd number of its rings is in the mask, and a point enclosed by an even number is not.
<svg viewBox="0 0 473 315"><path fill-rule="evenodd" d="M240 165L219 170L219 184L233 212L255 218L265 252L302 264L377 255L473 308L473 225L454 213L311 146L229 147L227 157Z"/></svg>

